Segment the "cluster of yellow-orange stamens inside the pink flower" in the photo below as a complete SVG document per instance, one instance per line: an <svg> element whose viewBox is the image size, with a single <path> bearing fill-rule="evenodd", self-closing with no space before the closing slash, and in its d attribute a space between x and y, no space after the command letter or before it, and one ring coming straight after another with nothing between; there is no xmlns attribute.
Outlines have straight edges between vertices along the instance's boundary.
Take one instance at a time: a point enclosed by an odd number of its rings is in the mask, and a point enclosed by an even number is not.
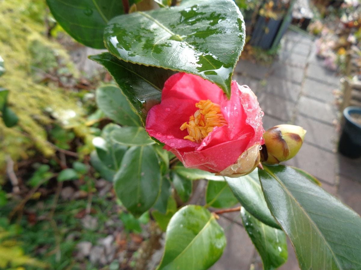
<svg viewBox="0 0 361 270"><path fill-rule="evenodd" d="M201 143L214 127L227 125L227 122L221 112L221 106L209 99L199 100L196 103L196 108L199 108L199 110L190 116L189 122L184 122L180 129L187 129L189 134L183 139Z"/></svg>

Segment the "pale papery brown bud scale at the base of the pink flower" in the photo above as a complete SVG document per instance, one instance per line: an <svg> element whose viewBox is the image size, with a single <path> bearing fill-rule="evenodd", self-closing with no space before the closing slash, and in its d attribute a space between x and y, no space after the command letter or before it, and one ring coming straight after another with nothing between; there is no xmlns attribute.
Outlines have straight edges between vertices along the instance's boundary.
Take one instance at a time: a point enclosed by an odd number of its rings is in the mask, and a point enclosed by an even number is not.
<svg viewBox="0 0 361 270"><path fill-rule="evenodd" d="M216 175L240 177L251 173L260 163L260 145L255 144L245 150L236 162Z"/></svg>

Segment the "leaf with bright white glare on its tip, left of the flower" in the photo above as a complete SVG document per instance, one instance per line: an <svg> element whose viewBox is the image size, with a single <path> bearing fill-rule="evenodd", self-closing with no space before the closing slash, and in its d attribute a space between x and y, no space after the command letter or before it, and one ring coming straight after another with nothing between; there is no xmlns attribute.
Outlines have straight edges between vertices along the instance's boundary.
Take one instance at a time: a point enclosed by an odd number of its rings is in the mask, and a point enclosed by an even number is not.
<svg viewBox="0 0 361 270"><path fill-rule="evenodd" d="M126 145L115 143L111 138L111 133L120 129L120 126L110 123L103 128L101 137L95 137L92 141L101 162L113 171L119 169L122 158L128 149Z"/></svg>

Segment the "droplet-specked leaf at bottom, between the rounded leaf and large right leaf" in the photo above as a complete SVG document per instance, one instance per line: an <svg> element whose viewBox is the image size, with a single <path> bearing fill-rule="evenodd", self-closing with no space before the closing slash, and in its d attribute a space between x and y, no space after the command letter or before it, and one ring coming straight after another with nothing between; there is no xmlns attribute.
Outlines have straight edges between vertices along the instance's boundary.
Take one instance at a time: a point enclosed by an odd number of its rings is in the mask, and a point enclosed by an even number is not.
<svg viewBox="0 0 361 270"><path fill-rule="evenodd" d="M241 208L243 226L262 258L263 269L276 269L287 261L287 240L282 230L270 227Z"/></svg>

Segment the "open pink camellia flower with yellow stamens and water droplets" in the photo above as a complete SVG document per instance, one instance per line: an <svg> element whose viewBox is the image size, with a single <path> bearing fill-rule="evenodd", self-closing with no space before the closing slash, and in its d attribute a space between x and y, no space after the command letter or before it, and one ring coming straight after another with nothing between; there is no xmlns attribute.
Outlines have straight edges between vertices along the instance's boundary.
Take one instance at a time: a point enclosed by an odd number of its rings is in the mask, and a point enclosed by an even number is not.
<svg viewBox="0 0 361 270"><path fill-rule="evenodd" d="M164 84L161 103L145 129L189 168L238 177L260 162L262 112L248 86L231 84L231 98L203 78L177 73Z"/></svg>

